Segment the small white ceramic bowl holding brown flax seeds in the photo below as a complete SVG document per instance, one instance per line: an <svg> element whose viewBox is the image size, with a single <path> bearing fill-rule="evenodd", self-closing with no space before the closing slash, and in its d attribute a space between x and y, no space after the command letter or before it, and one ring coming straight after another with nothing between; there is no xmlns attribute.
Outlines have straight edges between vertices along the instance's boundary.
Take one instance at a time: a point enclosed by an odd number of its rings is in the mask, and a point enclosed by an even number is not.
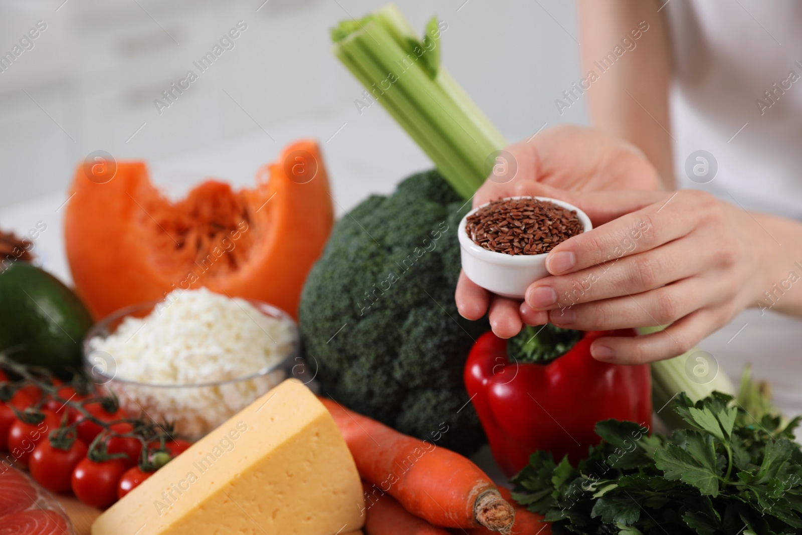
<svg viewBox="0 0 802 535"><path fill-rule="evenodd" d="M569 205L565 201L550 199L549 197L504 197L505 199L524 199L535 198L538 201L550 201L557 206L565 209L576 210L577 217L581 221L585 232L593 229L590 218L574 205ZM482 206L487 206L486 203ZM468 236L465 226L468 224L468 216L482 208L478 206L465 214L460 221L460 229L457 236L460 237L460 253L462 269L468 278L493 294L499 294L505 298L523 299L529 285L538 279L549 275L546 270L546 255L542 254L507 254L496 253L476 245Z"/></svg>

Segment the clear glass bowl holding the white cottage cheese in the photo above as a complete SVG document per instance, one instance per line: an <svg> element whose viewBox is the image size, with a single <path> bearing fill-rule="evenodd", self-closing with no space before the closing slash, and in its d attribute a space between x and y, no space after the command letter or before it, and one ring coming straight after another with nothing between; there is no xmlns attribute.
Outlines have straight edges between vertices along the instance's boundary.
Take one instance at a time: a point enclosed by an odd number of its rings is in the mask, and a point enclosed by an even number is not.
<svg viewBox="0 0 802 535"><path fill-rule="evenodd" d="M144 318L161 302L149 301L117 310L87 331L82 345L87 377L95 383L100 394L116 395L120 407L129 415L142 415L158 424L171 424L176 436L199 440L286 379L294 361L299 359L300 337L294 320L283 310L265 302L245 301L262 314L282 319L290 326L290 351L281 361L235 379L207 383L143 383L119 378L114 357L106 351L92 349L90 340L114 334L125 318Z"/></svg>

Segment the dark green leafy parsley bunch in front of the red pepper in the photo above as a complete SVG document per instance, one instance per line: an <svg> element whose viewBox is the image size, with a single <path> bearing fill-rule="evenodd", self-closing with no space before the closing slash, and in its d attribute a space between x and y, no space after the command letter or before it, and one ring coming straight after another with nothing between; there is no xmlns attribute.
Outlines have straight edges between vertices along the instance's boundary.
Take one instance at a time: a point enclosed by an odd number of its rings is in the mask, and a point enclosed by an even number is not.
<svg viewBox="0 0 802 535"><path fill-rule="evenodd" d="M759 420L730 395L674 411L689 428L649 436L645 425L599 422L602 444L577 468L536 452L512 497L552 521L555 535L780 535L802 533L799 417Z"/></svg>

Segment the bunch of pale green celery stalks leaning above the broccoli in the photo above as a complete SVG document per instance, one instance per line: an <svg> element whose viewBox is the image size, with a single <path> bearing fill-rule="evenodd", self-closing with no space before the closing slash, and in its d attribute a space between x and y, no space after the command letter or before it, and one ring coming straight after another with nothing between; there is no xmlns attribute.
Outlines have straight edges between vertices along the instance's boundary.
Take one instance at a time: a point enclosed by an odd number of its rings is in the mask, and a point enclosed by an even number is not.
<svg viewBox="0 0 802 535"><path fill-rule="evenodd" d="M435 27L435 21L429 27ZM439 66L438 35L427 36L424 46L403 14L390 5L361 21L341 22L332 30L332 39L338 59L456 191L471 197L487 177L488 157L507 142Z"/></svg>

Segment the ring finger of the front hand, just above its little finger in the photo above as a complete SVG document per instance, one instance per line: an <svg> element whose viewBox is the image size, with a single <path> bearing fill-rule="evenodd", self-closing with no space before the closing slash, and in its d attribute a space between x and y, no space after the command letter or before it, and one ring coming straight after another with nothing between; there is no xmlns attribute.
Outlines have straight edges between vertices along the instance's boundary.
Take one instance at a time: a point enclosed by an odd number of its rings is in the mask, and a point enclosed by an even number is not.
<svg viewBox="0 0 802 535"><path fill-rule="evenodd" d="M719 301L718 286L689 278L642 294L593 301L549 311L549 321L564 329L614 330L665 325Z"/></svg>

